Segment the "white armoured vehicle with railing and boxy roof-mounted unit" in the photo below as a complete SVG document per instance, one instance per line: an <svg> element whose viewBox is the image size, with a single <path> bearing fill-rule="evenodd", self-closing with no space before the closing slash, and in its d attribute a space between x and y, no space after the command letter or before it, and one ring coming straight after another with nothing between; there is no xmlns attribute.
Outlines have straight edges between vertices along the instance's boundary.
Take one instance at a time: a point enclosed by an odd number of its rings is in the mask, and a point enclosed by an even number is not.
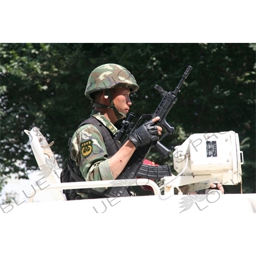
<svg viewBox="0 0 256 256"><path fill-rule="evenodd" d="M34 127L25 130L36 162L40 168L38 179L30 186L26 202L1 205L4 213L16 212L256 212L256 194L224 194L206 189L204 195L193 191L209 188L211 183L236 185L242 181L243 152L239 136L234 131L193 134L173 152L173 168L179 173L163 177L157 183L151 179L130 179L60 182L61 169L44 135ZM63 189L108 188L109 186L151 186L154 195L98 198L68 201ZM188 195L180 186L188 185ZM26 188L28 189L28 188ZM176 190L177 189L177 190ZM178 191L178 195L175 195Z"/></svg>

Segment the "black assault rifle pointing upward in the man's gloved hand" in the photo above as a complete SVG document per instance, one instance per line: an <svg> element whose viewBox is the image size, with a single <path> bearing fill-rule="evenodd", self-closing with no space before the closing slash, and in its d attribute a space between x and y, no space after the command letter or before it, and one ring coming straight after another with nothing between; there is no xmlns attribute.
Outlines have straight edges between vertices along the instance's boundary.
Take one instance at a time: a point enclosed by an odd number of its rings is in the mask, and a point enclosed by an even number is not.
<svg viewBox="0 0 256 256"><path fill-rule="evenodd" d="M182 76L182 79L180 80L179 84L177 85L177 87L175 88L175 90L173 92L166 92L163 90L163 88L161 86L156 84L156 86L154 88L156 90L158 90L158 92L163 97L163 99L157 106L156 111L154 111L154 113L152 115L141 115L138 122L136 122L135 125L132 124L132 120L134 118L134 114L132 113L132 116L131 117L129 116L129 118L127 118L127 120L129 119L129 122L124 123L122 129L120 129L121 134L118 134L118 140L122 140L123 136L126 133L125 130L126 131L128 130L127 131L128 133L130 132L129 130L131 130L131 132L135 131L135 129L140 125L141 120L143 120L144 118L152 119L156 116L159 116L160 119L155 124L166 129L166 132L161 137L161 140L163 140L163 138L165 138L169 134L172 134L174 131L174 128L168 124L168 122L166 121L166 116L168 115L170 109L175 104L175 102L177 102L177 99L178 99L177 93L180 92L180 86L182 85L184 80L188 77L191 70L192 70L192 67L188 66L188 68L186 69L186 71L184 72L184 74ZM131 129L131 126L132 126L132 129ZM128 138L125 138L125 141L126 140L128 140ZM155 148L157 150L157 152L159 152L161 154L161 156L163 156L164 158L166 158L171 152L171 150L166 148L160 142L160 140L153 141L152 143L149 143L148 145L138 148L137 150L135 150L134 154L132 154L131 159L128 161L128 163L125 166L122 173L120 173L120 175L118 175L115 182L118 182L118 180L122 180L122 179L134 179L134 177L139 174L139 171L141 170L141 166L143 167L143 161L147 157L151 148ZM156 167L160 167L160 166L150 166L150 167L156 168ZM147 170L150 170L150 167L144 166L144 168L146 168L146 169L148 168ZM146 172L147 172L147 170L146 170ZM120 184L122 184L122 182L120 182ZM130 196L125 186L109 187L106 190L105 195L108 197Z"/></svg>

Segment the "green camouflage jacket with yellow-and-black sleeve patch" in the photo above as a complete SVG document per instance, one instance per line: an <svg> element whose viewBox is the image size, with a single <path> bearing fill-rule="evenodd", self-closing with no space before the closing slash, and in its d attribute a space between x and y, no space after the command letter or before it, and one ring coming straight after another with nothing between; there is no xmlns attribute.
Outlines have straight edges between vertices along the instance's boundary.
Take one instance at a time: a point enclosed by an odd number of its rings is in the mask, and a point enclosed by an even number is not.
<svg viewBox="0 0 256 256"><path fill-rule="evenodd" d="M105 116L94 109L91 116L94 116L104 126L108 127L114 135L118 131ZM86 124L77 129L70 143L70 156L76 161L86 181L114 179L109 168L106 145L102 134L100 134L95 125ZM106 191L105 188L97 188L95 190L99 192ZM86 195L81 196L87 198Z"/></svg>

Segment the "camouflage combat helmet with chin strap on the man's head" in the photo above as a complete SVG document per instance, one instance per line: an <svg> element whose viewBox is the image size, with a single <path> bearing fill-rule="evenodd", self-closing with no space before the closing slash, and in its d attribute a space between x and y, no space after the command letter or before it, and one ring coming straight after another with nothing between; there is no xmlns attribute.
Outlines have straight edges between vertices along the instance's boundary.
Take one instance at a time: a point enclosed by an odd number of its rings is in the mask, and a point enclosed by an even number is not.
<svg viewBox="0 0 256 256"><path fill-rule="evenodd" d="M132 93L136 92L139 86L129 70L120 65L108 63L92 71L88 78L84 95L93 102L92 93L104 90L105 95L109 97L110 106L94 103L93 107L111 108L115 111L116 117L122 119L126 117L126 113L117 111L109 91L113 88L129 88Z"/></svg>

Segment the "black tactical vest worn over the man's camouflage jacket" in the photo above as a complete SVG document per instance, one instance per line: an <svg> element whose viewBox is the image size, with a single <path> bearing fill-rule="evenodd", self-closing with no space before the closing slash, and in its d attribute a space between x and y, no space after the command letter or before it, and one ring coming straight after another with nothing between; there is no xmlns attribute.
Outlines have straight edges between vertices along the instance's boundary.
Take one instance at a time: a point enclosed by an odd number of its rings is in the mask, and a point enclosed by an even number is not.
<svg viewBox="0 0 256 256"><path fill-rule="evenodd" d="M122 147L121 143L119 143L117 140L115 140L113 133L109 131L109 129L103 125L97 118L91 116L90 118L84 120L79 127L85 124L93 124L97 129L100 131L100 134L102 134L104 143L106 145L106 150L108 152L108 157L114 156L116 152ZM77 127L77 129L79 129ZM71 138L68 140L68 148L70 145ZM76 166L75 161L73 161L70 157L70 152L68 152L68 163L63 168L63 171L61 172L60 177L61 182L80 182L85 181L82 173L79 170L79 167ZM80 195L77 195L77 193L85 193L88 195L89 198L103 198L104 193L100 193L94 189L63 189L63 193L66 195L67 200L80 200L84 199Z"/></svg>

